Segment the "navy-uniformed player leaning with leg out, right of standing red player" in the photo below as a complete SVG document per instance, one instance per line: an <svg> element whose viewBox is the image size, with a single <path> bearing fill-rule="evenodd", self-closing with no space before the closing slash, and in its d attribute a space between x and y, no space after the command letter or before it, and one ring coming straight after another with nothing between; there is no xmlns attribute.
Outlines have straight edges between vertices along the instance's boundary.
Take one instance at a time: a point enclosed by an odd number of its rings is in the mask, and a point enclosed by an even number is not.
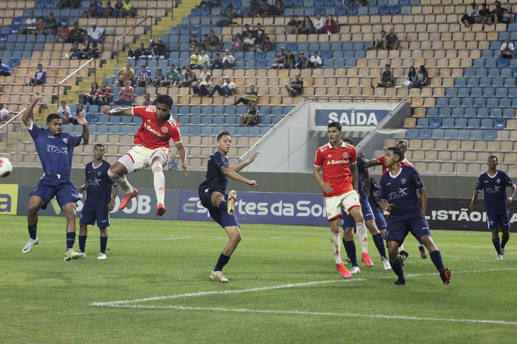
<svg viewBox="0 0 517 344"><path fill-rule="evenodd" d="M393 272L399 277L394 285L404 285L406 279L402 271L402 262L398 257L399 246L410 232L429 250L440 277L445 285L450 283L451 270L444 267L442 254L435 246L425 220L427 207L427 192L417 170L409 166L401 166L404 154L397 147L386 149L386 165L389 172L381 178L381 201L379 206L390 212L390 220L386 229L389 259ZM420 202L417 192L420 193Z"/></svg>

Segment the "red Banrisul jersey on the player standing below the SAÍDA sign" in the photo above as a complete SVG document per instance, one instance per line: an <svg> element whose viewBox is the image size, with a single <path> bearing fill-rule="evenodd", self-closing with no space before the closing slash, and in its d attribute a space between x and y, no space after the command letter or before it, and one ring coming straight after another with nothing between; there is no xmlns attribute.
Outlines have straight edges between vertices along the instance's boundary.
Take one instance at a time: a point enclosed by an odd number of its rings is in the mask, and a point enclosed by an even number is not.
<svg viewBox="0 0 517 344"><path fill-rule="evenodd" d="M324 197L339 196L354 190L350 164L356 162L355 147L345 142L341 142L339 148L334 148L328 143L316 150L314 166L323 168L323 181L334 189L330 194L324 191Z"/></svg>

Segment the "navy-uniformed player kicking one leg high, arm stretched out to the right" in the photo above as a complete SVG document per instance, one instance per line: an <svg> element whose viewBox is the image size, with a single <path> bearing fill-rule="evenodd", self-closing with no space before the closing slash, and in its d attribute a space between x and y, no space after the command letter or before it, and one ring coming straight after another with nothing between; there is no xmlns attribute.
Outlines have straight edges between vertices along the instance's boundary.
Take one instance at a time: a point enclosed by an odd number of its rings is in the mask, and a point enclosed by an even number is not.
<svg viewBox="0 0 517 344"><path fill-rule="evenodd" d="M220 132L217 135L217 152L210 155L206 169L206 178L197 189L203 207L208 209L210 216L224 228L230 238L219 256L214 271L210 274L211 279L223 283L228 282L228 279L224 276L222 269L230 260L230 256L240 242L240 225L235 216L235 200L237 194L232 190L226 195L228 178L251 186L257 185L254 180L246 179L237 173L242 168L251 164L255 160L257 153L254 153L251 158L245 162L230 166L228 158L226 158L226 154L228 154L230 148L232 148L232 134L227 131Z"/></svg>

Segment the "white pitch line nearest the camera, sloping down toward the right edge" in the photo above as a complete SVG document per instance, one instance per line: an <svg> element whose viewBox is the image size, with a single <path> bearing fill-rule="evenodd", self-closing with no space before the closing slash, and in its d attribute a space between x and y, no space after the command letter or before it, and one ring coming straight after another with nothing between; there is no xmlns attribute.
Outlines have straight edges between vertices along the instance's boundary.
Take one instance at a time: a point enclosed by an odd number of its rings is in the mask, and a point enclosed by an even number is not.
<svg viewBox="0 0 517 344"><path fill-rule="evenodd" d="M514 269L513 269L514 270ZM410 317L401 315L384 314L357 314L348 312L314 312L305 310L273 310L273 309L247 309L247 308L224 308L224 307L191 307L191 306L154 306L154 305L113 305L111 307L121 308L144 308L144 309L176 309L176 310L200 310L219 311L232 313L258 313L258 314L280 314L280 315L307 315L318 317L351 317L351 318L374 318L374 319L402 319L416 321L444 321L444 322L466 322L475 324L497 324L517 326L515 321L486 320L486 319L462 319L462 318L434 318L434 317Z"/></svg>

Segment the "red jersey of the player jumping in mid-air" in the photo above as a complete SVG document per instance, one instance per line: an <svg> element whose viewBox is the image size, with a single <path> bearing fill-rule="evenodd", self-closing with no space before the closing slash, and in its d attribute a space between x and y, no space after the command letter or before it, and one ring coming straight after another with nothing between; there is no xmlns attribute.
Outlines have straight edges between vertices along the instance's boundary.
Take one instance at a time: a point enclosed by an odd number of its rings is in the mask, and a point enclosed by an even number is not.
<svg viewBox="0 0 517 344"><path fill-rule="evenodd" d="M142 118L142 126L134 134L133 142L149 149L170 148L169 140L181 142L178 122L171 116L162 121L156 117L154 105L140 105L132 108L133 116Z"/></svg>

